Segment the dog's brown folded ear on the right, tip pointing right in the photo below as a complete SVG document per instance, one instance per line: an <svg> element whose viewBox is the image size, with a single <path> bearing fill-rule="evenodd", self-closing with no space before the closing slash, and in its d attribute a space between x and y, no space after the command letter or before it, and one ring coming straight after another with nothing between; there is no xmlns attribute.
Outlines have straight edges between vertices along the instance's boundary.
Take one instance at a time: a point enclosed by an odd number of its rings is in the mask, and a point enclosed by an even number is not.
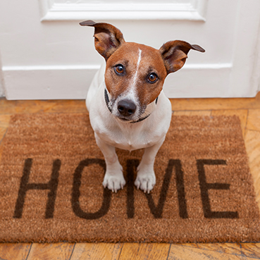
<svg viewBox="0 0 260 260"><path fill-rule="evenodd" d="M173 73L182 68L190 49L201 52L205 51L204 49L202 49L202 47L199 47L199 45L192 45L188 42L178 40L166 42L166 44L163 44L159 51L163 58L167 73Z"/></svg>

